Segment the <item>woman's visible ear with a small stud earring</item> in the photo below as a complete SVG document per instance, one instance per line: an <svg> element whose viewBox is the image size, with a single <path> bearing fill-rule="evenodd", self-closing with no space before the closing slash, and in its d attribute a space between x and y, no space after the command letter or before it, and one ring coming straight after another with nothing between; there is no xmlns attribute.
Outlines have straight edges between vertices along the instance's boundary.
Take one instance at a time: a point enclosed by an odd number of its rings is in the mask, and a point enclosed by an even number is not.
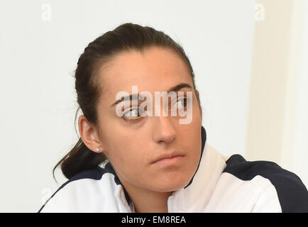
<svg viewBox="0 0 308 227"><path fill-rule="evenodd" d="M80 137L89 150L92 150L95 153L101 153L104 151L104 148L99 142L97 128L94 128L94 126L87 121L87 118L85 118L84 115L81 115L78 118L78 128ZM99 151L97 151L96 148L99 148Z"/></svg>

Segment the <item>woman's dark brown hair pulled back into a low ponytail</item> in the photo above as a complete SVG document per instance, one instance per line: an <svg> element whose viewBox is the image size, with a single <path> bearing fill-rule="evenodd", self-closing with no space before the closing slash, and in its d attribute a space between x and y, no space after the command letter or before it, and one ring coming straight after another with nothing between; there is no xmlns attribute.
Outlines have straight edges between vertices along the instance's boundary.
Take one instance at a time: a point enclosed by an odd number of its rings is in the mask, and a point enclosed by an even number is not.
<svg viewBox="0 0 308 227"><path fill-rule="evenodd" d="M84 49L77 62L75 70L75 89L77 92L77 103L82 114L89 123L99 126L97 103L102 91L103 84L99 83L98 70L106 62L112 59L119 52L137 50L143 52L145 48L158 46L169 48L179 55L185 61L187 68L192 76L194 89L194 72L182 46L176 43L169 35L162 31L156 31L148 26L140 26L133 23L123 23L114 31L108 31L97 39L89 43ZM77 118L75 115L75 122ZM75 124L76 127L76 124ZM53 177L55 178L55 169L60 165L63 175L70 179L83 170L96 167L106 160L104 153L95 153L84 145L82 138L70 150L67 155L57 162L53 168Z"/></svg>

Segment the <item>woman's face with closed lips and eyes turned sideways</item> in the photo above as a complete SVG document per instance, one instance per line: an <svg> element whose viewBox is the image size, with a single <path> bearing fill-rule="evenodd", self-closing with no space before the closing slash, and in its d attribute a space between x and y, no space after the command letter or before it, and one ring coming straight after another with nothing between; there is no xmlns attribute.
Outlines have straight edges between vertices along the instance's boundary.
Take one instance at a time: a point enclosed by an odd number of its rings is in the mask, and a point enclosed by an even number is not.
<svg viewBox="0 0 308 227"><path fill-rule="evenodd" d="M99 80L103 84L98 104L99 141L121 182L155 192L172 192L185 187L197 170L202 148L199 94L193 89L185 62L171 50L158 47L149 48L144 54L121 52L101 68ZM191 88L183 87L179 91L192 94L192 120L185 124L179 122L185 117L178 114L163 116L163 101L155 104L155 92L167 92L183 83ZM140 117L130 112L136 116L134 119L126 118L127 114L116 114L116 106L112 106L116 94L121 91L132 94L133 85L138 86L139 94L148 91L153 95L153 116ZM130 101L126 102L128 108L123 112L136 109L142 103L139 101L133 106ZM160 114L154 116L158 105ZM178 105L182 108L185 103L180 101ZM173 151L183 156L169 165L152 163L160 155Z"/></svg>

